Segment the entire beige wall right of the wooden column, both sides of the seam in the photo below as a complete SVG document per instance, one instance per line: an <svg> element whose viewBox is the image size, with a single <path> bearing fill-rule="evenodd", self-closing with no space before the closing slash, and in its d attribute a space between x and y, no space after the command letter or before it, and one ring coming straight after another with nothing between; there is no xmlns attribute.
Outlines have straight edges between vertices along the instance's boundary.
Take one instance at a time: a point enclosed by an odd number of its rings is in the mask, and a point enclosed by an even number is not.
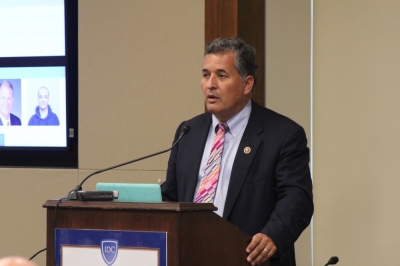
<svg viewBox="0 0 400 266"><path fill-rule="evenodd" d="M313 265L333 255L340 265L397 264L399 26L399 1L267 1L267 106L308 127L312 141ZM305 232L299 265L311 265L307 241Z"/></svg>

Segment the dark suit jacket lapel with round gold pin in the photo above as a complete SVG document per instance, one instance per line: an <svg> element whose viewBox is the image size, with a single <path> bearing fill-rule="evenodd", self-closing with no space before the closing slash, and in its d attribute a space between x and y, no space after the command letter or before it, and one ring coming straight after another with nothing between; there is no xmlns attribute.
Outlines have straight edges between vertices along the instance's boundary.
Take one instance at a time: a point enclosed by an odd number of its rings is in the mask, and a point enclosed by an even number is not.
<svg viewBox="0 0 400 266"><path fill-rule="evenodd" d="M233 162L223 214L223 218L225 219L228 218L235 204L236 198L238 197L239 192L247 178L250 165L253 162L254 156L256 155L257 149L261 143L261 138L258 135L263 131L263 127L259 108L261 107L252 103L249 121L240 141L235 156L235 161Z"/></svg>

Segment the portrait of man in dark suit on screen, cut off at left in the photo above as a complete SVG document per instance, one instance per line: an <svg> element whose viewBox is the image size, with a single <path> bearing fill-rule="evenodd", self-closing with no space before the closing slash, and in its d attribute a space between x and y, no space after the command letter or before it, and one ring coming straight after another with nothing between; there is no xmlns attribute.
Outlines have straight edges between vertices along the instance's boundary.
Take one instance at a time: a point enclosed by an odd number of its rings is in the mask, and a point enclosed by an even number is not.
<svg viewBox="0 0 400 266"><path fill-rule="evenodd" d="M0 126L21 125L21 80L0 79Z"/></svg>

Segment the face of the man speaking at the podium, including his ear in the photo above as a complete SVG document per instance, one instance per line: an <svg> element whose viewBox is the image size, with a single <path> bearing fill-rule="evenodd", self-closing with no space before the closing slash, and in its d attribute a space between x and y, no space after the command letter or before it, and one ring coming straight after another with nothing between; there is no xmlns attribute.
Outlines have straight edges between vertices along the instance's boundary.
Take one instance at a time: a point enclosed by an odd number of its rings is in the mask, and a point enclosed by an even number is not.
<svg viewBox="0 0 400 266"><path fill-rule="evenodd" d="M235 53L208 54L203 59L201 88L207 110L226 122L246 105L254 79L242 80L234 67Z"/></svg>

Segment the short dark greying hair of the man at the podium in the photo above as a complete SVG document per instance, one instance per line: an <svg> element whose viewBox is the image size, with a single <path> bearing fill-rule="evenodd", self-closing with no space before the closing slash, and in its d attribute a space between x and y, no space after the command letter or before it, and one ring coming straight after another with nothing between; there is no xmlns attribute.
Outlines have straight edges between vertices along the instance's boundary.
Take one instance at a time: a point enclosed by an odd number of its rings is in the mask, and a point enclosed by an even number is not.
<svg viewBox="0 0 400 266"><path fill-rule="evenodd" d="M204 56L208 54L221 54L227 52L235 53L235 68L242 80L247 76L254 78L256 83L256 72L258 65L256 64L256 49L250 44L245 43L240 38L218 38L206 45Z"/></svg>

